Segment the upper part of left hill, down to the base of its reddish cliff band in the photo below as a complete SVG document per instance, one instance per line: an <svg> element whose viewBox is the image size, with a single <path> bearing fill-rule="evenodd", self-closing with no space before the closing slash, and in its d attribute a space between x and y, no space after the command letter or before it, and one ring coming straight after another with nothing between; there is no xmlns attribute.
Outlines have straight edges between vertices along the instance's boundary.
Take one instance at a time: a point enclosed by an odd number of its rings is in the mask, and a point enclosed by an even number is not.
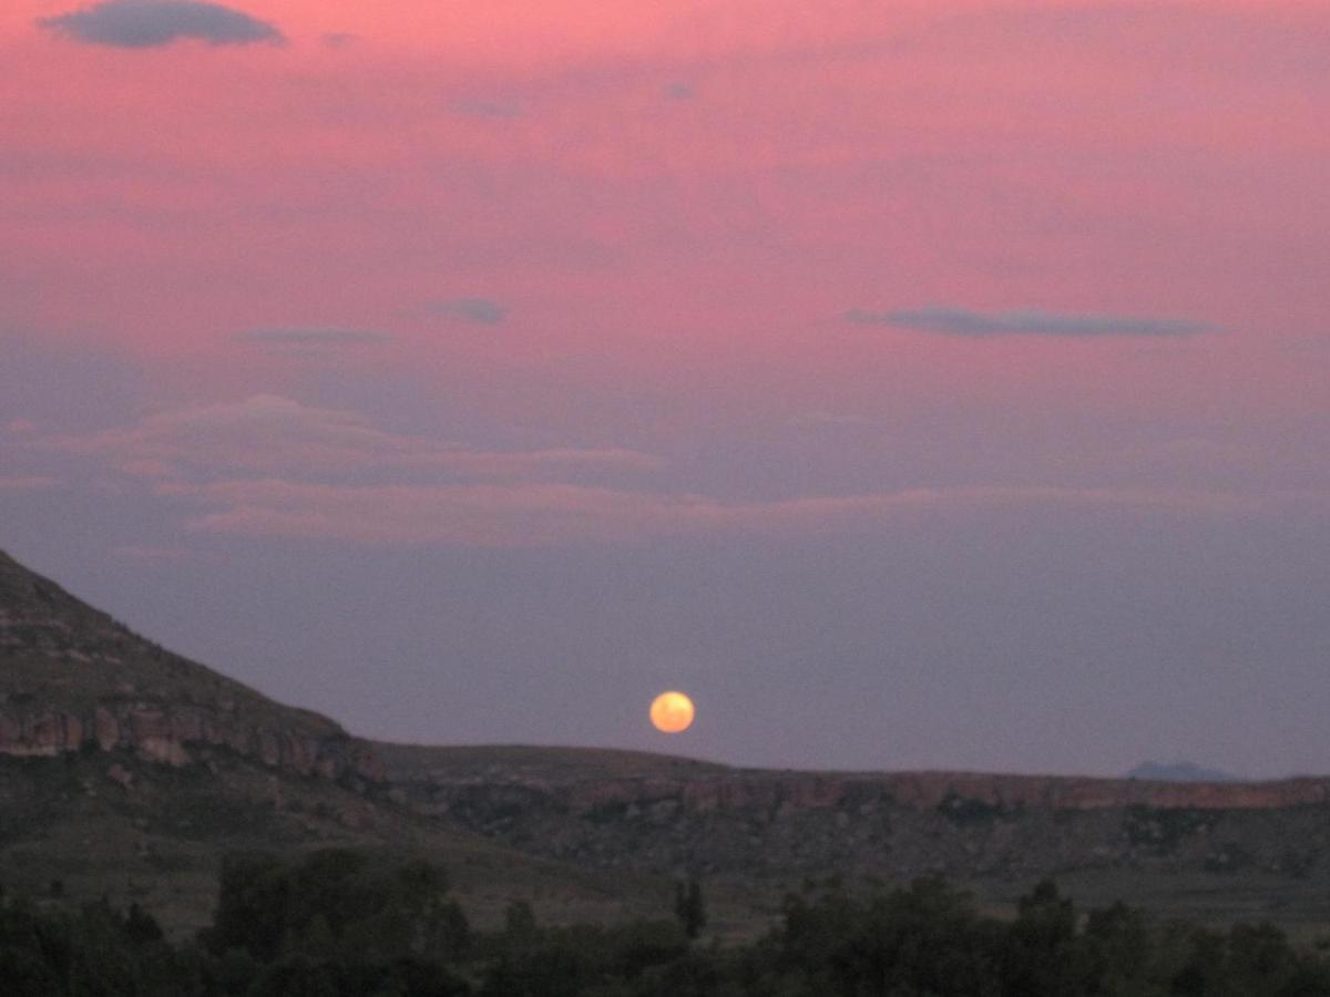
<svg viewBox="0 0 1330 997"><path fill-rule="evenodd" d="M137 637L0 553L0 755L227 750L301 775L378 780L368 744Z"/></svg>

